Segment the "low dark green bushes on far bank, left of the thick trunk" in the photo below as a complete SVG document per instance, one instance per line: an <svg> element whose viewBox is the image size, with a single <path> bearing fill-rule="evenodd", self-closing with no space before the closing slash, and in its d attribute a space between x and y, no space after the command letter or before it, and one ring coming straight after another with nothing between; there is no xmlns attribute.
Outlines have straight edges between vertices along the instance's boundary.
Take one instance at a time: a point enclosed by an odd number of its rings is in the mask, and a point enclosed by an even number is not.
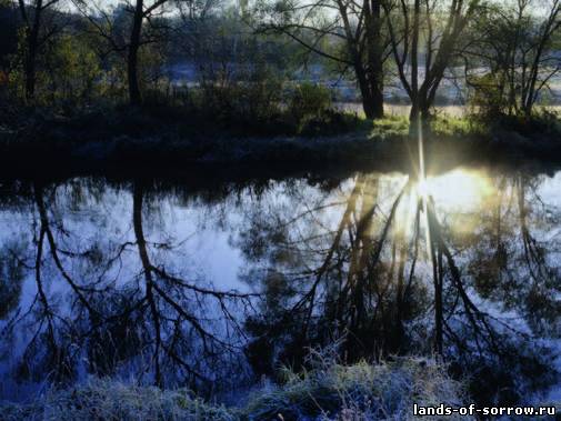
<svg viewBox="0 0 561 421"><path fill-rule="evenodd" d="M357 118L333 109L325 87L285 84L284 74L264 63L208 64L200 88L191 90L191 107L246 133L334 134L357 126Z"/></svg>

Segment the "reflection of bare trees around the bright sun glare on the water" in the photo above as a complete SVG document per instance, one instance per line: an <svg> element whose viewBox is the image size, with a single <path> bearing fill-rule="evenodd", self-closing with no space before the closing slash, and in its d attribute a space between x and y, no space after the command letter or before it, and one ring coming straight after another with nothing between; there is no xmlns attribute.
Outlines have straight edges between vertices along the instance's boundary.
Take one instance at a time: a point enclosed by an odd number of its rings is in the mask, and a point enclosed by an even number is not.
<svg viewBox="0 0 561 421"><path fill-rule="evenodd" d="M259 371L271 373L278 358L298 367L305 347L344 338L340 352L351 361L441 354L458 373L472 375L472 393L485 403L515 401L524 387L551 380L549 351L537 341L545 332L537 327L557 335L559 244L541 243L529 225L547 237L559 210L537 196L539 178L501 176L487 180L497 187L483 188L482 176L444 177L464 178L464 189L474 184L484 197L460 191L463 199L448 200L458 186L439 178L421 186L407 177L358 176L342 204L329 203L329 196L298 215L250 220L247 232L259 238L246 235L242 250L270 248L248 255L269 260L261 312L247 323ZM328 208L338 215L329 228L320 217ZM490 242L490 235L500 239Z"/></svg>

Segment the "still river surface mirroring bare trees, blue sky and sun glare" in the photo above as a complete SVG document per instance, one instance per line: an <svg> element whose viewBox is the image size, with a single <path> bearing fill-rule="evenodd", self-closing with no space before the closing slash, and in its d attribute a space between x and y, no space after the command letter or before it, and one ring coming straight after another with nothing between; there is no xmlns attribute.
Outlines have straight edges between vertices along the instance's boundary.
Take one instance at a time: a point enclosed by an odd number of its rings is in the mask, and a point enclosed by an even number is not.
<svg viewBox="0 0 561 421"><path fill-rule="evenodd" d="M523 400L555 383L552 182L4 183L0 394L87 373L212 394L335 344L349 361L437 353L480 402Z"/></svg>

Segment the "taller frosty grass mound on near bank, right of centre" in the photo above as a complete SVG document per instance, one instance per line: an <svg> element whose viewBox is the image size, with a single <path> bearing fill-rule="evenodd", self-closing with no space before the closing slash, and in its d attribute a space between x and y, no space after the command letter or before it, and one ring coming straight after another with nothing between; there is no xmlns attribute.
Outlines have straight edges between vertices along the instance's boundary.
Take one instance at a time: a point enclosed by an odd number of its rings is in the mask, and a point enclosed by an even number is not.
<svg viewBox="0 0 561 421"><path fill-rule="evenodd" d="M251 420L408 420L413 403L459 405L462 387L431 360L341 365L319 359L311 371L287 371L278 390L256 395L246 412Z"/></svg>

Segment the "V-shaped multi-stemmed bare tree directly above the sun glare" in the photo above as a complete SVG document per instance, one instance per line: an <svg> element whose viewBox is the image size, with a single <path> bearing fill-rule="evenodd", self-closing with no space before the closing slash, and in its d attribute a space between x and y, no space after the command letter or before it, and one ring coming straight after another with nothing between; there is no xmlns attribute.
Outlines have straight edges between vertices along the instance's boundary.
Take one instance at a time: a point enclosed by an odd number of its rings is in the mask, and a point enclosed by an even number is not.
<svg viewBox="0 0 561 421"><path fill-rule="evenodd" d="M383 1L393 61L411 101L410 121L429 120L445 70L479 6L479 0Z"/></svg>

